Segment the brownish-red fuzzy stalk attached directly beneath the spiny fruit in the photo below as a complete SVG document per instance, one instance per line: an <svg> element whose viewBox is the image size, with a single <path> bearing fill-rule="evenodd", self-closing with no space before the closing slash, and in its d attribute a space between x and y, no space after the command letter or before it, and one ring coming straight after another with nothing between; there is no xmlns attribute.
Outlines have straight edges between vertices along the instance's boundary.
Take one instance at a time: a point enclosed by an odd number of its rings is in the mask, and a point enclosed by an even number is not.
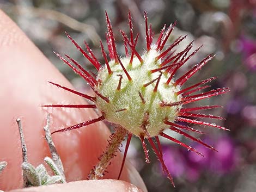
<svg viewBox="0 0 256 192"><path fill-rule="evenodd" d="M127 130L119 126L115 128L114 133L110 136L110 140L106 151L101 155L100 162L90 171L88 179L101 179L111 159L115 156L119 146L127 135Z"/></svg>

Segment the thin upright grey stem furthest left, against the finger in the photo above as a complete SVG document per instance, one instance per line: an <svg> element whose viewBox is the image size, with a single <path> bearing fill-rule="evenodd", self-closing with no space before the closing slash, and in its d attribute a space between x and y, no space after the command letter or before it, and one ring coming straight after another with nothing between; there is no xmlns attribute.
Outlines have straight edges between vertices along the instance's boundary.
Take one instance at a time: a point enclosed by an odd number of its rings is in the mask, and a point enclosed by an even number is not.
<svg viewBox="0 0 256 192"><path fill-rule="evenodd" d="M25 143L25 138L24 138L23 129L21 125L21 119L20 118L16 119L16 122L19 127L19 133L20 133L20 139L21 139L22 163L25 163L25 162L28 163L27 146ZM28 179L24 172L23 172L23 187L28 187Z"/></svg>

